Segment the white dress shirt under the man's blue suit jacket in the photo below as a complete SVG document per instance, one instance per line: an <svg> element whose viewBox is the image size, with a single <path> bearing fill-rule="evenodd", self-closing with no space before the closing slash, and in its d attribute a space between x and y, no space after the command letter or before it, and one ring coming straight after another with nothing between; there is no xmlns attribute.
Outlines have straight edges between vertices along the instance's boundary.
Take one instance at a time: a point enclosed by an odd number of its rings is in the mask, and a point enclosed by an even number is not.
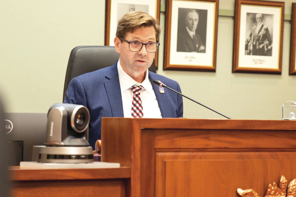
<svg viewBox="0 0 296 197"><path fill-rule="evenodd" d="M143 86L140 94L143 107L143 118L162 118L152 84L148 78L148 69L146 71L145 79L142 83L136 82L133 78L131 78L131 76L123 71L119 60L117 63L117 70L124 118L131 118L131 108L133 101L133 91L131 90L131 87L133 85Z"/></svg>

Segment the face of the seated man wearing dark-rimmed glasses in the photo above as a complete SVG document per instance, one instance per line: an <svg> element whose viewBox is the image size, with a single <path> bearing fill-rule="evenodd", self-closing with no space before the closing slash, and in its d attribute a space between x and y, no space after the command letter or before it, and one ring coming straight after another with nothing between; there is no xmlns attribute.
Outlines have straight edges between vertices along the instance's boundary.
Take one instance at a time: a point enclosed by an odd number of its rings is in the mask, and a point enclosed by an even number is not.
<svg viewBox="0 0 296 197"><path fill-rule="evenodd" d="M141 43L156 42L155 29L153 26L139 27L132 33L128 32L124 39ZM151 66L154 53L148 53L145 46L138 52L132 52L129 50L128 43L121 43L118 37L114 39L114 43L117 53L120 53L119 61L123 70L133 79L135 76L145 76L144 72Z"/></svg>

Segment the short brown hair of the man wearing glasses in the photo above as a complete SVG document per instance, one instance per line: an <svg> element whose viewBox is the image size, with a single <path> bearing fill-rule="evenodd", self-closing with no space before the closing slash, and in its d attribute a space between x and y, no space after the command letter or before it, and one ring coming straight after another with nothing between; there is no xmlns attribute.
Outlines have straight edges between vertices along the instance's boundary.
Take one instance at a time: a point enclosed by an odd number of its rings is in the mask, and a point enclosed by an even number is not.
<svg viewBox="0 0 296 197"><path fill-rule="evenodd" d="M128 32L133 32L136 28L151 26L155 29L156 41L158 42L160 36L160 26L158 21L146 12L128 12L118 21L116 36L118 38L124 38Z"/></svg>

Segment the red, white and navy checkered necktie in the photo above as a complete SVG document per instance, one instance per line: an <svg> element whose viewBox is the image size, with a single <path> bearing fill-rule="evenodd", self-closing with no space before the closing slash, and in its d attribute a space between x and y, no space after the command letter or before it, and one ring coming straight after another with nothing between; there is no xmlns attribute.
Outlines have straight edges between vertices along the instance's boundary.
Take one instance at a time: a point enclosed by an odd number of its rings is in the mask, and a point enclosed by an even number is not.
<svg viewBox="0 0 296 197"><path fill-rule="evenodd" d="M131 106L131 116L133 118L143 118L143 107L141 101L140 91L143 86L132 86L131 90L133 90L133 103Z"/></svg>

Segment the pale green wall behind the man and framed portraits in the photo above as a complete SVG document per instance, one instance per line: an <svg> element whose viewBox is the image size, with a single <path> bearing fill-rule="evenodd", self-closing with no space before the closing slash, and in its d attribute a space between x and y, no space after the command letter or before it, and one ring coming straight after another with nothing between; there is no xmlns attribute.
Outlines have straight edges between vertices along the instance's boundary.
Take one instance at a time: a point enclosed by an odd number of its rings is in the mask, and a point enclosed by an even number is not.
<svg viewBox="0 0 296 197"><path fill-rule="evenodd" d="M289 76L292 2L296 0L285 1L281 75L231 72L234 0L220 0L216 72L164 71L160 47L158 74L178 81L185 95L234 119L280 120L281 105L296 101L296 75ZM0 87L6 109L47 113L52 104L62 102L71 49L104 45L105 1L1 0L0 7ZM224 119L186 98L184 117Z"/></svg>

